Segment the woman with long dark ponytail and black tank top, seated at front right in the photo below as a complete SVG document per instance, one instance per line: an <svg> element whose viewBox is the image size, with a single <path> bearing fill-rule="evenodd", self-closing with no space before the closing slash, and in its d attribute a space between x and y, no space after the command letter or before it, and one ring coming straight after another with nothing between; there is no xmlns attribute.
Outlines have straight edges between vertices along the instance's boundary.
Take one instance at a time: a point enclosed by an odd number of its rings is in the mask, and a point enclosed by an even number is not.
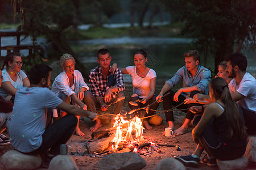
<svg viewBox="0 0 256 170"><path fill-rule="evenodd" d="M192 130L196 150L189 156L175 156L187 166L199 164L204 150L207 151L208 165L216 164L216 159L233 160L245 154L246 130L242 112L232 100L226 80L212 79L209 94L214 102L207 106L203 117Z"/></svg>

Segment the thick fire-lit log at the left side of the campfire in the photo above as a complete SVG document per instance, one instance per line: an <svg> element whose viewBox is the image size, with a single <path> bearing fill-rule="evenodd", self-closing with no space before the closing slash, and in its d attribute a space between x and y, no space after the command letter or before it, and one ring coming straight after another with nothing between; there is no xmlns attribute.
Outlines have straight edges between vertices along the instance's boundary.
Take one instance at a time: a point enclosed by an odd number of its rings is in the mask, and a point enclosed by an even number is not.
<svg viewBox="0 0 256 170"><path fill-rule="evenodd" d="M106 137L106 138L97 139L97 140L94 140L94 141L88 143L86 145L86 148L87 148L89 154L93 154L94 152L101 153L101 152L105 151L109 147L113 138L114 138L114 135L112 135L110 137Z"/></svg>

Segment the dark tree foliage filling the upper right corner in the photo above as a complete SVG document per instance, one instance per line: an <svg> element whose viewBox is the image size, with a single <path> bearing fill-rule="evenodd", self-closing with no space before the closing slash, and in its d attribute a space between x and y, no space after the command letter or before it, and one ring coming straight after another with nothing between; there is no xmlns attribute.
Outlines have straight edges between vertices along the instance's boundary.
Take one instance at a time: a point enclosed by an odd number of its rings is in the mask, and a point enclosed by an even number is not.
<svg viewBox="0 0 256 170"><path fill-rule="evenodd" d="M182 35L195 38L201 52L213 53L215 66L233 52L235 44L256 47L255 0L163 0L174 18L185 21ZM217 71L217 67L215 69Z"/></svg>

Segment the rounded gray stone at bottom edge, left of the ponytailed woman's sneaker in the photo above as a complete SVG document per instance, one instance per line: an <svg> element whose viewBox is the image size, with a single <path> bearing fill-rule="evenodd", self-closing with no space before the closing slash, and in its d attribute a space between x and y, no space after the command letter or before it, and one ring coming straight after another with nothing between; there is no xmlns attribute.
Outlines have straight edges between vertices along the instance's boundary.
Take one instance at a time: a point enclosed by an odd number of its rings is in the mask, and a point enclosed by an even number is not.
<svg viewBox="0 0 256 170"><path fill-rule="evenodd" d="M161 160L155 167L155 170L185 170L185 166L174 158Z"/></svg>

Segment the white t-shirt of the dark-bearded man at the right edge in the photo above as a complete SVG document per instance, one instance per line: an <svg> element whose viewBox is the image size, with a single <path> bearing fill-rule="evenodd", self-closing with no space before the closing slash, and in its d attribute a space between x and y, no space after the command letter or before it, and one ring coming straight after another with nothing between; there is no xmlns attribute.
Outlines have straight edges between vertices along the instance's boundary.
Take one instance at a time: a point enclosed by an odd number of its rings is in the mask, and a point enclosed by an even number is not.
<svg viewBox="0 0 256 170"><path fill-rule="evenodd" d="M245 96L243 99L237 101L238 105L247 110L256 112L256 79L250 73L243 75L240 84L237 84L236 79L231 80L229 83L229 91L230 93L237 91Z"/></svg>

